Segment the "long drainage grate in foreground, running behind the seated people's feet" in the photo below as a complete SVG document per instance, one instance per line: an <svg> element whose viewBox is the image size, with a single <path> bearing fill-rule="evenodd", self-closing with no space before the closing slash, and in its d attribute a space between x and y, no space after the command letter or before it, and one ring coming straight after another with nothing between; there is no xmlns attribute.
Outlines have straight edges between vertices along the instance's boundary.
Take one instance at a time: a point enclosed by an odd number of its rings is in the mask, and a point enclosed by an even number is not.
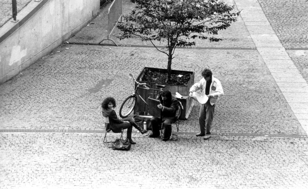
<svg viewBox="0 0 308 189"><path fill-rule="evenodd" d="M0 133L105 133L105 130L81 130L81 129L0 129ZM124 131L125 133L125 131ZM139 134L133 131L133 134ZM173 132L173 134L176 134ZM195 136L195 132L179 131L179 136ZM308 138L300 134L266 134L266 133L219 133L212 132L213 136L226 137L278 137L278 138Z"/></svg>

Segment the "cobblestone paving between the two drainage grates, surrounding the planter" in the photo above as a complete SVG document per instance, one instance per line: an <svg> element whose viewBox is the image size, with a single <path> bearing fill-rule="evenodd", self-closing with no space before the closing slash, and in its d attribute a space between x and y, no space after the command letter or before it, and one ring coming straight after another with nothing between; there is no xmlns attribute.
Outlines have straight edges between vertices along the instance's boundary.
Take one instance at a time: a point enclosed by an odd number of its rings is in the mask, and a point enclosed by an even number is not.
<svg viewBox="0 0 308 189"><path fill-rule="evenodd" d="M129 73L164 62L153 48L62 45L2 84L1 127L101 129L102 100L114 96L120 104L133 89ZM173 69L196 72L197 82L205 67L225 91L213 131L305 134L257 51L177 49ZM194 106L184 131L198 131L198 111Z"/></svg>

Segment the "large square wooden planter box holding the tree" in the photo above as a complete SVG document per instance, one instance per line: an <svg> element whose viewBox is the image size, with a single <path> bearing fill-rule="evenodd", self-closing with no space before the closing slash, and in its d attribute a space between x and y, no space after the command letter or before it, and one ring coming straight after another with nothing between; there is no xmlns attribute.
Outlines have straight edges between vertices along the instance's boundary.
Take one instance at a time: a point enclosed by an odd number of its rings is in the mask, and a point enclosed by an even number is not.
<svg viewBox="0 0 308 189"><path fill-rule="evenodd" d="M143 77L144 73L148 72L149 70L152 72L167 73L167 69L144 67L144 69L140 72L136 80L141 81L141 78ZM190 87L194 84L195 73L188 71L172 70L172 74L180 74L180 75L190 74L190 80L186 85L167 84L167 86L164 88L164 90L169 90L173 96L175 95L176 92L180 93L183 96L183 99L178 99L180 100L184 108L180 119L187 119L194 105L193 99L188 95ZM142 81L142 83L147 83L150 86L149 87L150 90L139 88L137 91L139 95L146 102L148 102L148 97L156 98L159 92L159 88L156 87L156 84L158 83L146 82L146 81ZM159 83L159 84L165 84L165 83ZM135 113L136 112L138 112L140 115L147 115L148 113L148 106L139 97L137 97Z"/></svg>

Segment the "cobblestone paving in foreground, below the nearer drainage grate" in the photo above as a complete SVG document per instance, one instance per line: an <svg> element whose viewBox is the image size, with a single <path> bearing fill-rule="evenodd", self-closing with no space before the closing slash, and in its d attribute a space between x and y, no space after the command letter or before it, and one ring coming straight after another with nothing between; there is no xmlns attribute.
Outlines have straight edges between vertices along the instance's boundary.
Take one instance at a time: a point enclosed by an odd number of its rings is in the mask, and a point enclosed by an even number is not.
<svg viewBox="0 0 308 189"><path fill-rule="evenodd" d="M135 140L137 144L123 152L103 144L102 134L1 133L0 186L3 189L307 186L306 139L213 137L209 141L182 138L177 142L161 142L140 136Z"/></svg>

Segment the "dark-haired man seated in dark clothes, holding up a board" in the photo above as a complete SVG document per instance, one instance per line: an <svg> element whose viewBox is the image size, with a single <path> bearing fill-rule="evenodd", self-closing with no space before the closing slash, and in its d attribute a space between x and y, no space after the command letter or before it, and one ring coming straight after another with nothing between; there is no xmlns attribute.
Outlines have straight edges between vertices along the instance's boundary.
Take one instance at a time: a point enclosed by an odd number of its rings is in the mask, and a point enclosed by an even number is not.
<svg viewBox="0 0 308 189"><path fill-rule="evenodd" d="M165 128L163 141L169 140L172 133L172 123L175 121L176 110L178 107L178 101L175 97L172 97L170 91L163 91L161 95L158 97L160 100L160 104L157 105L159 109L161 109L161 118L152 117L151 125L152 125L152 134L149 136L150 138L160 136L160 125L163 122L163 127Z"/></svg>

